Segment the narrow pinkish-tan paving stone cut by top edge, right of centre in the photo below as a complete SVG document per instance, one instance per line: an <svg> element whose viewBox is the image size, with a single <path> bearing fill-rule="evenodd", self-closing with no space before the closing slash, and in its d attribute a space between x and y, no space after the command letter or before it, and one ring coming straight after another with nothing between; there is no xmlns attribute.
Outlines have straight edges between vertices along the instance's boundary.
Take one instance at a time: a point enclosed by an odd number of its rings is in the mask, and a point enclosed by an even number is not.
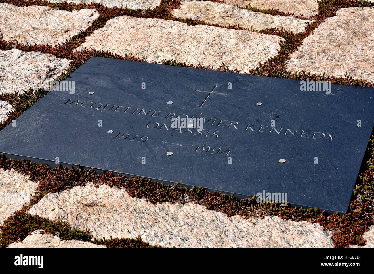
<svg viewBox="0 0 374 274"><path fill-rule="evenodd" d="M225 0L225 2L239 7L250 5L258 9L280 9L307 18L318 13L317 0Z"/></svg>

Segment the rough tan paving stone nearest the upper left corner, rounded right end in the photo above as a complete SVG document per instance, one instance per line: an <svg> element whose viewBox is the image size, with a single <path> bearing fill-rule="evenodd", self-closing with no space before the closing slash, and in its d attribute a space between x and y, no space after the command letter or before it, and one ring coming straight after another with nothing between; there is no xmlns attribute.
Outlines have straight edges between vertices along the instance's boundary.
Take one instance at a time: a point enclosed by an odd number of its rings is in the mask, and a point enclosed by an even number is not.
<svg viewBox="0 0 374 274"><path fill-rule="evenodd" d="M92 9L70 12L46 6L17 7L0 3L0 30L5 41L56 45L91 26L98 16Z"/></svg>

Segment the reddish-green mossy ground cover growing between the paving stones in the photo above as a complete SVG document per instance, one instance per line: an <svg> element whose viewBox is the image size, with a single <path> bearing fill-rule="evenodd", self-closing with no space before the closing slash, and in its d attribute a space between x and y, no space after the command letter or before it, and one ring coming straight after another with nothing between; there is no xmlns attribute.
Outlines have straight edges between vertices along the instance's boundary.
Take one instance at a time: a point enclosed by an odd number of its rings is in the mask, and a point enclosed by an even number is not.
<svg viewBox="0 0 374 274"><path fill-rule="evenodd" d="M65 73L58 80L64 80L72 73L76 68L86 62L91 56L102 56L108 58L126 59L133 61L144 61L136 56L125 55L120 56L110 52L98 52L95 50L83 50L81 52L76 52L74 49L83 43L85 37L92 34L93 31L98 28L104 27L105 23L116 16L129 15L135 17L144 18L162 18L169 20L178 20L181 22L186 22L190 25L198 24L208 24L200 20L192 19L181 19L175 18L169 15L171 9L175 9L179 6L180 2L178 0L161 0L160 6L153 10L147 9L142 11L140 9L132 10L127 8L108 8L102 6L101 4L73 4L73 3L49 3L41 0L1 0L0 2L6 2L14 4L16 6L50 6L51 8L58 7L60 10L74 10L74 9L96 9L99 11L100 16L93 22L92 26L82 31L80 34L72 37L69 41L62 45L50 46L50 45L24 45L18 43L12 43L11 41L0 40L0 49L10 50L14 46L16 49L24 51L39 51L42 53L50 53L58 58L66 58L72 60L71 67L68 73ZM219 1L222 2L222 1ZM302 40L315 30L326 18L336 15L337 10L346 7L369 7L374 6L372 3L368 3L365 0L350 1L350 0L322 0L318 2L319 12L318 15L313 17L313 22L306 27L306 31L303 33L294 34L292 32L287 32L284 30L279 30L275 28L259 31L260 33L275 34L283 37L284 42L281 43L281 49L278 55L267 60L263 64L250 71L249 74L254 74L258 76L268 76L268 77L279 77L288 78L295 80L327 80L332 83L337 84L349 84L364 87L374 87L374 83L369 83L368 81L362 79L352 79L351 77L332 77L310 74L305 71L298 73L290 73L286 71L284 62L290 58L290 54L294 52L298 46L301 45ZM252 9L253 10L253 9ZM265 10L256 10L260 12L267 12ZM276 15L281 14L278 11L268 11L267 13ZM233 28L237 30L243 30L240 26L220 26L212 25L217 27ZM339 26L337 26L338 28ZM165 65L175 65L182 67L194 67L206 70L219 70L237 73L235 68L228 68L225 64L222 64L219 68L213 67L203 67L200 64L185 64L177 62L175 60L163 60ZM20 90L20 92L22 92ZM48 91L45 90L29 90L21 95L13 94L1 94L0 100L8 101L14 106L14 110L9 114L6 121L0 124L0 130L5 126L10 124L12 120L21 115L26 111L31 105L37 102L40 98L45 96ZM184 196L187 194L190 201L202 204L208 209L217 210L226 213L228 216L240 215L243 218L253 218L253 217L264 217L267 215L280 216L281 218L291 219L293 221L310 221L313 223L318 223L322 225L324 229L331 230L333 232L332 240L334 241L335 247L347 247L350 244L364 244L362 239L362 234L368 229L370 225L374 222L374 193L373 193L373 182L374 182L374 139L373 136L370 140L367 154L365 155L365 164L362 167L361 173L358 178L355 190L352 194L352 201L349 207L349 212L343 216L334 213L332 215L327 215L325 212L321 212L318 209L296 209L290 206L280 206L276 203L261 203L256 202L255 197L246 198L239 200L234 196L227 196L221 193L211 193L203 188L192 188L187 190L187 188L181 187L179 185L166 186L157 182L150 181L144 178L126 178L124 176L114 176L112 173L103 173L102 175L96 173L94 170L90 169L67 169L65 167L51 168L47 165L40 165L33 163L28 160L11 160L11 159L0 159L0 167L3 169L15 169L18 172L30 175L31 179L39 182L39 189L37 194L34 196L32 203L36 203L45 194L50 192L56 192L59 190L68 189L76 185L84 185L89 181L96 184L107 184L113 187L124 188L132 197L138 198L148 198L153 203L160 203L164 201L184 203ZM25 209L25 208L24 208ZM23 210L24 210L23 209ZM23 239L33 230L36 229L47 229L48 220L38 219L40 217L27 217L25 211L16 212L13 217L10 217L4 222L1 230L2 240L1 246L6 246L15 238ZM18 219L17 219L18 218ZM22 220L22 221L19 221ZM53 222L52 222L53 223ZM27 225L23 225L27 224ZM35 225L34 225L35 224ZM38 225L36 225L38 224ZM48 223L49 224L49 223ZM64 226L63 223L58 223L55 225L60 225L62 228L70 231L67 235L72 235L74 239L82 238L82 235L86 235L86 240L88 240L88 234L85 231L77 231ZM65 224L66 225L66 224ZM38 227L38 228L36 228ZM62 229L61 228L61 229ZM14 234L12 236L12 234ZM61 234L60 234L61 235ZM65 237L65 236L62 236ZM70 236L69 236L70 237ZM17 239L18 239L17 238ZM72 239L71 238L71 239ZM65 239L65 238L64 238ZM70 239L70 238L66 238ZM135 242L133 242L135 241ZM105 243L110 247L146 247L147 244L143 243L140 239L110 239L110 240L96 240L95 243ZM144 246L145 244L145 246ZM153 247L153 246L150 246Z"/></svg>

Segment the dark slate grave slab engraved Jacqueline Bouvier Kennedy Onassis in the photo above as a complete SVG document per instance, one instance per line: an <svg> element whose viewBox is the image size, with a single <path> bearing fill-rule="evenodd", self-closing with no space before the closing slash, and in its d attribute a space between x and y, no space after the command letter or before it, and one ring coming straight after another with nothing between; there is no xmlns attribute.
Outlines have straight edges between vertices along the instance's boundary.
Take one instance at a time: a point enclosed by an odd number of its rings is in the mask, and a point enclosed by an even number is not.
<svg viewBox="0 0 374 274"><path fill-rule="evenodd" d="M245 196L287 193L293 205L343 213L373 130L371 88L326 94L295 80L96 57L68 80L75 93L46 95L0 132L0 152ZM205 117L202 133L173 130L170 113Z"/></svg>

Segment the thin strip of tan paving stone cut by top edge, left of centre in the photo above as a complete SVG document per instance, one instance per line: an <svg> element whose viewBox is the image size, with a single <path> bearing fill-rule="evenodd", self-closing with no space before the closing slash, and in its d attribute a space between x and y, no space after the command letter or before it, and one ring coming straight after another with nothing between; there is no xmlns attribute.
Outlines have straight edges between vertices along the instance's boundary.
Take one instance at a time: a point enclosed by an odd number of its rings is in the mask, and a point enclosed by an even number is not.
<svg viewBox="0 0 374 274"><path fill-rule="evenodd" d="M61 0L50 0L52 3L59 3ZM76 4L99 3L107 7L128 7L129 9L154 9L160 5L161 0L69 0Z"/></svg>

